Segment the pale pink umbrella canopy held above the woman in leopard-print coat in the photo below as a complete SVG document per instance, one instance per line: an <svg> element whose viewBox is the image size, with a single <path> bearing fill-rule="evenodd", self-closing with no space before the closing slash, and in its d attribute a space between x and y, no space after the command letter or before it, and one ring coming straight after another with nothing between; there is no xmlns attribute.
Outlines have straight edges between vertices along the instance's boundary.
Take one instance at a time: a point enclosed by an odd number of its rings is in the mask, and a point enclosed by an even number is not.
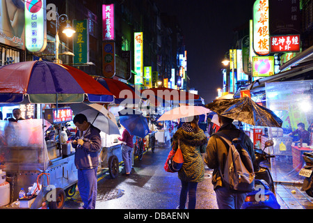
<svg viewBox="0 0 313 223"><path fill-rule="evenodd" d="M179 107L176 107L175 109L165 112L158 119L158 121L175 120L178 118L207 114L209 112L211 112L210 109L202 106L181 105Z"/></svg>

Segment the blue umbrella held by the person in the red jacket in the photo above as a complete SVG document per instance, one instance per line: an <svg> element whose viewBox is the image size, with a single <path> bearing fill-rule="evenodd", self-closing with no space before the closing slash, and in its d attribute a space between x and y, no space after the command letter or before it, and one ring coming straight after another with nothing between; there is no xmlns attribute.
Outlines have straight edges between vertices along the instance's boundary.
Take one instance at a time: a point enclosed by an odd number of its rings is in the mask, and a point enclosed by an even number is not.
<svg viewBox="0 0 313 223"><path fill-rule="evenodd" d="M120 123L123 125L129 134L136 135L137 137L144 138L149 134L149 125L147 118L142 116L139 112L133 109L123 109L118 112L120 115Z"/></svg>

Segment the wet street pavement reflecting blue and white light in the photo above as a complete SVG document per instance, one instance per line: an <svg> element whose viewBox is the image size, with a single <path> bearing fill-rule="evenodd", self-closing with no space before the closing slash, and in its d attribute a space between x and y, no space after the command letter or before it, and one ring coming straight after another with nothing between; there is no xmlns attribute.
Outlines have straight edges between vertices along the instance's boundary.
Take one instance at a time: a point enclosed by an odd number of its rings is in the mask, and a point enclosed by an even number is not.
<svg viewBox="0 0 313 223"><path fill-rule="evenodd" d="M143 155L143 160L135 158L131 176L120 175L112 179L109 174L98 180L96 209L175 209L179 203L181 183L177 173L167 173L163 169L170 151L166 146L156 146ZM216 196L211 184L211 169L205 166L205 179L198 184L196 209L217 209ZM276 185L277 199L281 209L312 209L313 199L300 186ZM294 193L293 193L294 192ZM82 205L79 193L73 199L67 198L65 209L77 209Z"/></svg>

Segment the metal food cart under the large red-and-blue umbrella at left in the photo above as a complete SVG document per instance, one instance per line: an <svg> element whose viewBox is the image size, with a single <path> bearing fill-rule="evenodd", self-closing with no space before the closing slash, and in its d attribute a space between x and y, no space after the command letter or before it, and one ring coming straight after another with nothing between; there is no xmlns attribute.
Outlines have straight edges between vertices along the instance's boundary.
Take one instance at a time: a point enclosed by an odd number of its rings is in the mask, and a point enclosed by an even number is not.
<svg viewBox="0 0 313 223"><path fill-rule="evenodd" d="M45 141L47 125L42 119L0 121L0 169L6 172L10 184L8 190L0 190L0 197L10 194L2 208L41 208L43 203L49 208L63 208L65 196L74 195L74 153L67 153L54 141ZM28 192L31 187L35 191L27 199L17 201L21 188Z"/></svg>

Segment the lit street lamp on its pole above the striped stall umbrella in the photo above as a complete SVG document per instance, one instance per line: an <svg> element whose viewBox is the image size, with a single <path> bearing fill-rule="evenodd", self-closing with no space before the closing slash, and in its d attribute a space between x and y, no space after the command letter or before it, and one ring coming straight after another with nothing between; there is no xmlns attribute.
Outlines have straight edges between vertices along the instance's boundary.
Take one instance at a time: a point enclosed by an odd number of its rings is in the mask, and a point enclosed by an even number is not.
<svg viewBox="0 0 313 223"><path fill-rule="evenodd" d="M60 45L60 38L58 38L58 29L60 28L60 24L62 22L67 22L65 29L62 31L62 33L65 33L67 37L72 37L73 34L76 33L72 26L70 26L67 15L58 15L58 8L56 8L56 63L60 63L60 60L58 59L58 45Z"/></svg>

